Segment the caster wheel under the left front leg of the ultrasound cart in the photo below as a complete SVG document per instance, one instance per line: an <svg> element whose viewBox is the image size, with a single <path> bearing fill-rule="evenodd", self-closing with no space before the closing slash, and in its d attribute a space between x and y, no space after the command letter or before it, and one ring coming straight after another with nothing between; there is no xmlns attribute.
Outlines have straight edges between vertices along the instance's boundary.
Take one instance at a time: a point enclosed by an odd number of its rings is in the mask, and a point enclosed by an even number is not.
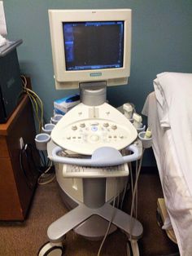
<svg viewBox="0 0 192 256"><path fill-rule="evenodd" d="M63 256L64 249L62 243L50 243L47 242L45 245L42 245L38 251L37 256Z"/></svg>

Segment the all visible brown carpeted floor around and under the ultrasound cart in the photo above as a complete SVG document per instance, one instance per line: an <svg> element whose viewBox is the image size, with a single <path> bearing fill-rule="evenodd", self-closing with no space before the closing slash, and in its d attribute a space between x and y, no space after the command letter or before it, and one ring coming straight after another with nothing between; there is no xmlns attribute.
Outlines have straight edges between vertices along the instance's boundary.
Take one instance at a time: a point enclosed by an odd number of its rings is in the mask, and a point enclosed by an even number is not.
<svg viewBox="0 0 192 256"><path fill-rule="evenodd" d="M177 245L169 241L156 223L156 201L162 196L158 174L142 173L138 187L138 220L144 227L143 237L139 241L141 256L162 256L177 252ZM128 205L129 196L126 196L125 211L128 211ZM38 249L47 241L47 227L66 212L55 182L38 186L24 223L0 223L0 255L37 255ZM65 241L65 255L97 255L100 243L101 241L87 241L74 232L69 232ZM125 256L125 235L117 231L108 236L103 245L102 255Z"/></svg>

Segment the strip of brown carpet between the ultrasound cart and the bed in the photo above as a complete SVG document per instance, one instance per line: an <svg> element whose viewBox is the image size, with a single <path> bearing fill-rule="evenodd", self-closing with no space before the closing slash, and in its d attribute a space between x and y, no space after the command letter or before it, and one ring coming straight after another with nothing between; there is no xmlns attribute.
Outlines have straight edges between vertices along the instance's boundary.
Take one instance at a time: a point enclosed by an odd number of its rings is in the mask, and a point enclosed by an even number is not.
<svg viewBox="0 0 192 256"><path fill-rule="evenodd" d="M157 199L163 197L159 174L144 173L138 183L138 220L143 226L139 241L141 256L164 256L178 252L177 245L169 240L156 220Z"/></svg>

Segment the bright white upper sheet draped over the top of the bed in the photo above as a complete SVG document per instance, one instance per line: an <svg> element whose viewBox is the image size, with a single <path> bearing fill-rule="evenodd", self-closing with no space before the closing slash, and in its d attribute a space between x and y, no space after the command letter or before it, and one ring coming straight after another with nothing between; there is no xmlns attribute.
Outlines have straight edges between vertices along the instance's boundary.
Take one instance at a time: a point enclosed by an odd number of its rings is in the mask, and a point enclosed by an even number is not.
<svg viewBox="0 0 192 256"><path fill-rule="evenodd" d="M192 73L159 73L154 89L160 124L171 127L180 169L192 196Z"/></svg>

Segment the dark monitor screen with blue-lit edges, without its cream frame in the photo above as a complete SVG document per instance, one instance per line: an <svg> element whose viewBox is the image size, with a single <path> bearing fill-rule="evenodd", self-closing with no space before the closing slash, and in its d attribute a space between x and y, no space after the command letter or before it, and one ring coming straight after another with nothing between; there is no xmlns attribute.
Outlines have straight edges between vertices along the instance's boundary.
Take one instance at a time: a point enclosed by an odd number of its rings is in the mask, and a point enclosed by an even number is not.
<svg viewBox="0 0 192 256"><path fill-rule="evenodd" d="M66 70L123 67L124 21L63 22Z"/></svg>

